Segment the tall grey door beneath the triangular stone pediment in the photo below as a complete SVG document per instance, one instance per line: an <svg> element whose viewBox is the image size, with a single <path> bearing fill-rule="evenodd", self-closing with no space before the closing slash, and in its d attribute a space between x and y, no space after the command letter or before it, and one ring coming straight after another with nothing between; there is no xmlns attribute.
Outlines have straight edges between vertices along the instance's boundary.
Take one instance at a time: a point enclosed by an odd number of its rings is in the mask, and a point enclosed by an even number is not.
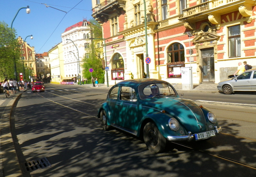
<svg viewBox="0 0 256 177"><path fill-rule="evenodd" d="M202 81L215 82L214 48L201 49Z"/></svg>

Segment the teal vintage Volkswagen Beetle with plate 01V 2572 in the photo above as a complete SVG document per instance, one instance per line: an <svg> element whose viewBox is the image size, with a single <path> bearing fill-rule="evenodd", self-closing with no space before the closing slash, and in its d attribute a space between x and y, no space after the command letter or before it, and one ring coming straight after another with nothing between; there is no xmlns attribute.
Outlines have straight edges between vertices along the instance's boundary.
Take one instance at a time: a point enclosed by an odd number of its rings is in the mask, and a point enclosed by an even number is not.
<svg viewBox="0 0 256 177"><path fill-rule="evenodd" d="M143 137L154 153L167 141L210 139L221 131L216 116L180 98L171 84L156 79L125 80L113 86L98 111L104 130L110 127Z"/></svg>

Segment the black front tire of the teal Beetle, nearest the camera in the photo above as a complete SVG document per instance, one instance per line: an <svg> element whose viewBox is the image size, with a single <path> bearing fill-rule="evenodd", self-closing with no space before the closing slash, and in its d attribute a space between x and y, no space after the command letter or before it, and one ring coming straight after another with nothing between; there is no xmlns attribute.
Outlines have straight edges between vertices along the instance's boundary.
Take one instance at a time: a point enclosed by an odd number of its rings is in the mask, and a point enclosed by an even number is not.
<svg viewBox="0 0 256 177"><path fill-rule="evenodd" d="M153 122L148 122L143 129L143 138L148 149L153 153L161 153L166 147L166 138Z"/></svg>

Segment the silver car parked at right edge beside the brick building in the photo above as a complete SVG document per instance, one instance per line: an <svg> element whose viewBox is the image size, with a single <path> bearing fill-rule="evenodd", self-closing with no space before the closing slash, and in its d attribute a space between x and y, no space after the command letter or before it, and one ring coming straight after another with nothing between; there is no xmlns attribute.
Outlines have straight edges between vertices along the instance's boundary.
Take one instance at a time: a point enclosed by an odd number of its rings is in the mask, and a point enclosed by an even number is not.
<svg viewBox="0 0 256 177"><path fill-rule="evenodd" d="M256 91L256 68L219 82L217 88L224 94L231 94L235 91Z"/></svg>

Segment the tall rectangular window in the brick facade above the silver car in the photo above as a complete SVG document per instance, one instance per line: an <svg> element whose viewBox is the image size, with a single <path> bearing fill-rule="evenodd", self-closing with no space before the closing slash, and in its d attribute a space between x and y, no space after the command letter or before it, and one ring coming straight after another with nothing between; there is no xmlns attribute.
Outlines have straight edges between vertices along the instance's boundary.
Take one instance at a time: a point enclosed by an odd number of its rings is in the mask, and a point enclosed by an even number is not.
<svg viewBox="0 0 256 177"><path fill-rule="evenodd" d="M228 28L229 57L241 56L240 25Z"/></svg>

